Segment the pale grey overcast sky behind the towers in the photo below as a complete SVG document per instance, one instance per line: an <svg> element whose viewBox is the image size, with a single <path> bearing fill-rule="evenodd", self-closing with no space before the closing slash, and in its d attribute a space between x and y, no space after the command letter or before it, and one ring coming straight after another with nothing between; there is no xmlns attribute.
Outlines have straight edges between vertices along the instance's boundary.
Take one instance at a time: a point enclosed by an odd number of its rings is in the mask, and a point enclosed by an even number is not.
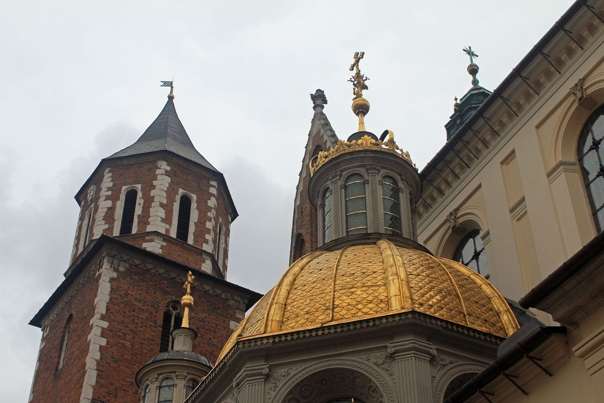
<svg viewBox="0 0 604 403"><path fill-rule="evenodd" d="M421 170L471 86L461 49L472 45L492 90L571 2L0 4L0 396L26 402L40 340L27 323L67 268L73 196L159 114L159 80L174 78L179 117L239 210L229 280L266 292L288 266L310 92L325 91L340 138L355 132L348 68L364 51L367 130L391 129Z"/></svg>

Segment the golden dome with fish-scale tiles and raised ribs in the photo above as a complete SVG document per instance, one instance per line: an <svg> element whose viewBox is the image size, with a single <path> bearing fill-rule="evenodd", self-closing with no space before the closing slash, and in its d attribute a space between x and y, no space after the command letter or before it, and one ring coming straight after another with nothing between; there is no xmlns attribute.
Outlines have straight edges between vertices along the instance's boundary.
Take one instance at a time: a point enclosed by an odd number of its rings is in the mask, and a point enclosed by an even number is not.
<svg viewBox="0 0 604 403"><path fill-rule="evenodd" d="M227 341L416 311L507 337L518 322L484 277L461 263L387 239L315 251L289 266Z"/></svg>

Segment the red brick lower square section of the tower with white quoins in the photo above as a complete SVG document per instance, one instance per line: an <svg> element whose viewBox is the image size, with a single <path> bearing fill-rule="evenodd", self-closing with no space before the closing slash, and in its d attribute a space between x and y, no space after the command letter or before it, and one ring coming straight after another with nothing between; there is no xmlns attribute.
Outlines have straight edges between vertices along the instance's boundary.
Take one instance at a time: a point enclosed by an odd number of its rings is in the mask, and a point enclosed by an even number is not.
<svg viewBox="0 0 604 403"><path fill-rule="evenodd" d="M119 245L109 244L97 254L101 258L86 266L82 280L42 321L49 330L42 339L32 402L139 401L135 374L159 353L164 308L184 294L187 273ZM215 363L245 315L249 295L201 276L191 295L190 327L198 332L193 351ZM56 370L69 314L74 315L72 336L65 365Z"/></svg>

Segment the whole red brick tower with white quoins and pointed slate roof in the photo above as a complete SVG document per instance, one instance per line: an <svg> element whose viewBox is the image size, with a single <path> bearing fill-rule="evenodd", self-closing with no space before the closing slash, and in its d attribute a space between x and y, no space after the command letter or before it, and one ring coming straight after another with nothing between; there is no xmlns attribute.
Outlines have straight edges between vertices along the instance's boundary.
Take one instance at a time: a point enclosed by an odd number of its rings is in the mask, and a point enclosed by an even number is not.
<svg viewBox="0 0 604 403"><path fill-rule="evenodd" d="M65 280L30 321L42 329L30 402L138 402L137 370L174 349L187 273L214 363L260 294L226 281L237 210L222 173L193 146L174 95L131 146L101 160L76 194Z"/></svg>

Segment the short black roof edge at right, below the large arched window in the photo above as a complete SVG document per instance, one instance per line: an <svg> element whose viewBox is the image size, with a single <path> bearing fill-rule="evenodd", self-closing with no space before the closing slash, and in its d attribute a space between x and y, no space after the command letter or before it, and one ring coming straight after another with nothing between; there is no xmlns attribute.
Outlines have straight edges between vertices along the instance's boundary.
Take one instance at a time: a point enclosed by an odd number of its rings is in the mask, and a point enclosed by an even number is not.
<svg viewBox="0 0 604 403"><path fill-rule="evenodd" d="M562 283L582 269L585 263L602 252L604 252L604 231L597 234L590 242L580 248L577 253L568 258L566 262L551 272L549 276L545 277L541 283L528 291L524 297L520 298L518 303L525 309L535 308L535 305L544 300L561 286Z"/></svg>

